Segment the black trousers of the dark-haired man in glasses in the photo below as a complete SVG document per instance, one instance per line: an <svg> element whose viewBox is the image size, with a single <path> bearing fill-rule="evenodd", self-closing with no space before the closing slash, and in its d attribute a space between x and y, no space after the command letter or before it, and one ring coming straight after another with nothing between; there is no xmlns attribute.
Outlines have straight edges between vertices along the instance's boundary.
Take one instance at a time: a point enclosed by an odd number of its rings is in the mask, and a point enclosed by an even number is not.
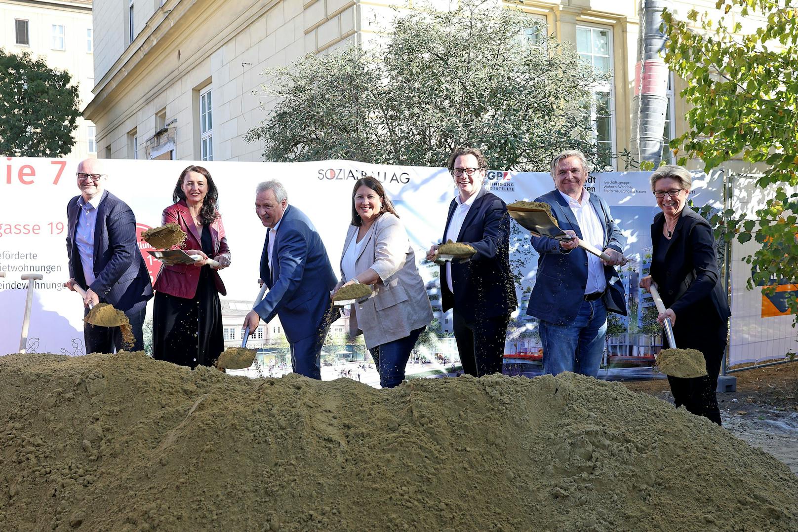
<svg viewBox="0 0 798 532"><path fill-rule="evenodd" d="M466 323L457 309L452 309L454 339L465 373L483 376L501 372L509 323L509 314Z"/></svg>

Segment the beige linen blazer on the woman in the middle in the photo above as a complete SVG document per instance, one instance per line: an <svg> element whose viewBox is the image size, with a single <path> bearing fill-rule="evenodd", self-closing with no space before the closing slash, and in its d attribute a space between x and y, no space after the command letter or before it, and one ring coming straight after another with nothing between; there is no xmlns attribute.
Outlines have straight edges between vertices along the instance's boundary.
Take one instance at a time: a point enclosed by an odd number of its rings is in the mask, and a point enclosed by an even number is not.
<svg viewBox="0 0 798 532"><path fill-rule="evenodd" d="M350 225L344 241L346 247L358 236L358 227ZM371 268L380 281L371 287L374 294L358 305L352 305L350 334L363 333L365 347L409 336L410 332L433 321L433 308L424 281L418 273L416 254L410 246L405 226L389 212L374 221L366 242L355 260L355 275ZM343 277L343 268L341 268ZM343 282L349 279L343 279Z"/></svg>

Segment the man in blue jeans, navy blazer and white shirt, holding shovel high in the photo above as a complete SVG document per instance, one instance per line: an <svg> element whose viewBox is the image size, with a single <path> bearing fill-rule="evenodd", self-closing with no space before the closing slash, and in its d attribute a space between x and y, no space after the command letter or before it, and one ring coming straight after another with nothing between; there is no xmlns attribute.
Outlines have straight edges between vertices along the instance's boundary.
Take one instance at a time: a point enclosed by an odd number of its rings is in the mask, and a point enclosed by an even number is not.
<svg viewBox="0 0 798 532"><path fill-rule="evenodd" d="M590 167L582 152L569 150L551 161L556 190L535 201L548 203L551 214L571 242L532 237L539 253L535 286L527 314L539 319L543 372L571 371L597 376L604 353L607 310L626 315L623 287L614 266L626 264L626 238L610 207L584 188ZM589 254L579 240L610 256L607 262Z"/></svg>

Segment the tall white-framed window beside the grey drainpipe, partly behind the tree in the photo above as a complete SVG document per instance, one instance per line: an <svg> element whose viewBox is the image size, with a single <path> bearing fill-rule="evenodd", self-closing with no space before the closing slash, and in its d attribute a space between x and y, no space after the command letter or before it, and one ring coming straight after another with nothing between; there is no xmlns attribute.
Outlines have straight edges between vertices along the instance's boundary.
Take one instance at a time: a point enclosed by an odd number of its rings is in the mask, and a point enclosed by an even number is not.
<svg viewBox="0 0 798 532"><path fill-rule="evenodd" d="M609 74L613 64L612 30L600 26L576 26L576 51L596 73ZM615 120L613 78L593 89L590 119L593 138L605 167L615 167Z"/></svg>

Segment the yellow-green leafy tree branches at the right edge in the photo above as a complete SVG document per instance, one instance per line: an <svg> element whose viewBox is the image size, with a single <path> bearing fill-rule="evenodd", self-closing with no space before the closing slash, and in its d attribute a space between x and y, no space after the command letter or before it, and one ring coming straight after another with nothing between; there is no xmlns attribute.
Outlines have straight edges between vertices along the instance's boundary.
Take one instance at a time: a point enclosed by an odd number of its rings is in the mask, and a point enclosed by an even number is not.
<svg viewBox="0 0 798 532"><path fill-rule="evenodd" d="M713 216L726 242L762 244L745 257L749 288L798 278L798 0L719 0L719 20L690 10L687 20L663 14L669 37L666 61L687 81L681 96L692 106L689 131L671 141L709 170L741 156L767 164L757 184L768 188L766 206L749 217L729 209ZM742 33L741 17L760 14L764 26ZM699 26L700 31L693 30ZM683 164L685 159L680 160ZM770 192L772 190L772 192ZM768 285L770 285L768 287ZM796 314L793 296L789 308Z"/></svg>

